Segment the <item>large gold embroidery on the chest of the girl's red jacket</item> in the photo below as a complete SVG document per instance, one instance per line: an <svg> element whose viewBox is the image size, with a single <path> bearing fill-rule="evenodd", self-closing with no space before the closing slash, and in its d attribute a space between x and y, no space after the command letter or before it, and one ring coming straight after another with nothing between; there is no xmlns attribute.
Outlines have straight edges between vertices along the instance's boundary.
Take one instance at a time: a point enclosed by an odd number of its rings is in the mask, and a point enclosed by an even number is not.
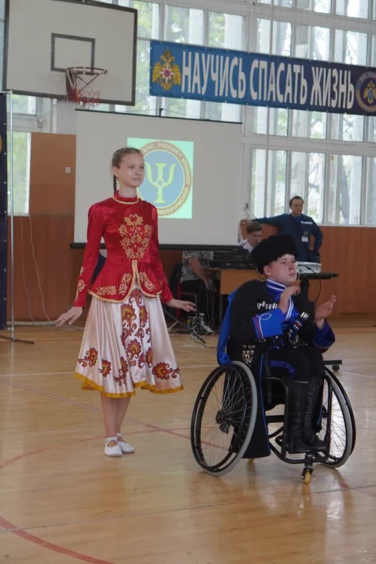
<svg viewBox="0 0 376 564"><path fill-rule="evenodd" d="M126 257L129 260L142 259L152 237L152 226L143 225L143 217L137 214L125 217L124 223L119 227L119 233Z"/></svg>

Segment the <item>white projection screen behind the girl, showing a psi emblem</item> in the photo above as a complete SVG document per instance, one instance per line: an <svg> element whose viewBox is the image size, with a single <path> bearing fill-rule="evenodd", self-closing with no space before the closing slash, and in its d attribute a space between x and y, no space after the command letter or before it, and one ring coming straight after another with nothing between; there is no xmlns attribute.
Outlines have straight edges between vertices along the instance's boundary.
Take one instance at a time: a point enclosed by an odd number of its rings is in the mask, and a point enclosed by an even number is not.
<svg viewBox="0 0 376 564"><path fill-rule="evenodd" d="M86 243L89 207L112 195L111 157L138 147L142 199L159 215L162 245L236 245L241 209L241 125L76 111L75 243Z"/></svg>

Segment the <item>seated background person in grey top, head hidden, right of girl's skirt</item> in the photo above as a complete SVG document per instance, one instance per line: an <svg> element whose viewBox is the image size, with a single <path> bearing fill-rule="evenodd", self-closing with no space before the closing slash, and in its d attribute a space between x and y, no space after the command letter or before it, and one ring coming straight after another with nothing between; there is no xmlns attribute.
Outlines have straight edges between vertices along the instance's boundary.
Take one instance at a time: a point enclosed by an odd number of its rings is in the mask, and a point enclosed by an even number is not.
<svg viewBox="0 0 376 564"><path fill-rule="evenodd" d="M211 251L184 251L182 257L181 293L197 295L196 315L200 324L197 329L201 334L213 332L205 323L205 320L210 319L210 291L213 286L207 269L213 256Z"/></svg>

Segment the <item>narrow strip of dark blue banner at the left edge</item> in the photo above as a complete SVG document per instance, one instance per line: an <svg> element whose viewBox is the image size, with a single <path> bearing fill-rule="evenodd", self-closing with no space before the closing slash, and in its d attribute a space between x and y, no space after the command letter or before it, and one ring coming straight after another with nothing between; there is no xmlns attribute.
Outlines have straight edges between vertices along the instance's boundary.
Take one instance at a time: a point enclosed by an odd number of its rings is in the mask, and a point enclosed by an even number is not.
<svg viewBox="0 0 376 564"><path fill-rule="evenodd" d="M6 279L8 274L7 170L6 94L0 94L0 329L6 329Z"/></svg>

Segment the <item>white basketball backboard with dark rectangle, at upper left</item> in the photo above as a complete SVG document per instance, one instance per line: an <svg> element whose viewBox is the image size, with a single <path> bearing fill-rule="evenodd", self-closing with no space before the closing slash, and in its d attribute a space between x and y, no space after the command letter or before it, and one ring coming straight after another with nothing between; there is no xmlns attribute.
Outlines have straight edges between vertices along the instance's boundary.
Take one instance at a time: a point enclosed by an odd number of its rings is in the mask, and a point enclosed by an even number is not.
<svg viewBox="0 0 376 564"><path fill-rule="evenodd" d="M67 67L99 67L101 102L135 104L137 11L91 0L6 0L4 90L66 98Z"/></svg>

